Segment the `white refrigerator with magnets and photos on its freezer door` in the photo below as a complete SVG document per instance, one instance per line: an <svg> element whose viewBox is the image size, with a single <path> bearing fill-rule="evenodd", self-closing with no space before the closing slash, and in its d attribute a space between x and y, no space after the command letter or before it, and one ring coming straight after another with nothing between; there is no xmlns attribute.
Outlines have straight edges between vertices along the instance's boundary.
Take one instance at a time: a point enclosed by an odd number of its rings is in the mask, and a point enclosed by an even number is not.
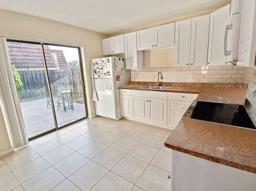
<svg viewBox="0 0 256 191"><path fill-rule="evenodd" d="M125 58L115 56L92 59L93 100L96 115L118 120L120 86L130 84L130 70L125 69Z"/></svg>

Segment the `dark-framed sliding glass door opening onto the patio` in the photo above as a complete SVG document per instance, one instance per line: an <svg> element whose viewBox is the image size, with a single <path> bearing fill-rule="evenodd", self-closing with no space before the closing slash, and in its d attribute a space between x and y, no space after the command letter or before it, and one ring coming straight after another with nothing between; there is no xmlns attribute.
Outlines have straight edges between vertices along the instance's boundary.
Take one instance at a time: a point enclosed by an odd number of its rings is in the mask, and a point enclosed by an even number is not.
<svg viewBox="0 0 256 191"><path fill-rule="evenodd" d="M29 139L87 116L78 47L12 40L7 47Z"/></svg>

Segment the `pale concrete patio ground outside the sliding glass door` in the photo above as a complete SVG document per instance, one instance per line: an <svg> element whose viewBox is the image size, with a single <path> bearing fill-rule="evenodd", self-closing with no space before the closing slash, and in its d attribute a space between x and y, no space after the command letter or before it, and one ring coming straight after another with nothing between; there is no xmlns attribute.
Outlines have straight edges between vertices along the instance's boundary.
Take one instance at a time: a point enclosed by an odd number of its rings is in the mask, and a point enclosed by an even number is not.
<svg viewBox="0 0 256 191"><path fill-rule="evenodd" d="M20 103L28 138L55 128L52 107L47 107L47 98ZM84 104L73 101L74 110L66 112L54 104L58 126L87 116Z"/></svg>

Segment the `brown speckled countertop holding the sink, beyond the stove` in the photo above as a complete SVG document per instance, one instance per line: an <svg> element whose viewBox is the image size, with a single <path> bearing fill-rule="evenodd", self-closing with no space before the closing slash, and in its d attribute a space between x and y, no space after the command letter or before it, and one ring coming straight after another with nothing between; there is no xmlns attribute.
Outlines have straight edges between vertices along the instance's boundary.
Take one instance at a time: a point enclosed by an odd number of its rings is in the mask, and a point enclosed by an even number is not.
<svg viewBox="0 0 256 191"><path fill-rule="evenodd" d="M198 94L197 100L221 102L227 104L244 105L246 87L195 87L195 86L174 86L164 90L148 90L140 89L147 85L125 85L119 89L133 89L145 91L162 91L162 92L176 92L176 93L189 93Z"/></svg>

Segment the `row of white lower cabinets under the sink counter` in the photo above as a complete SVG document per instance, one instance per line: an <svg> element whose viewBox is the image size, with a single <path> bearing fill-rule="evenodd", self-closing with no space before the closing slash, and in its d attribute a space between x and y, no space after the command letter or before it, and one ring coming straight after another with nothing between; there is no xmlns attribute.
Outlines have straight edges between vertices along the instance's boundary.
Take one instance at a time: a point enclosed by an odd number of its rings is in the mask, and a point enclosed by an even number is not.
<svg viewBox="0 0 256 191"><path fill-rule="evenodd" d="M175 128L197 96L121 89L121 115L160 127Z"/></svg>

